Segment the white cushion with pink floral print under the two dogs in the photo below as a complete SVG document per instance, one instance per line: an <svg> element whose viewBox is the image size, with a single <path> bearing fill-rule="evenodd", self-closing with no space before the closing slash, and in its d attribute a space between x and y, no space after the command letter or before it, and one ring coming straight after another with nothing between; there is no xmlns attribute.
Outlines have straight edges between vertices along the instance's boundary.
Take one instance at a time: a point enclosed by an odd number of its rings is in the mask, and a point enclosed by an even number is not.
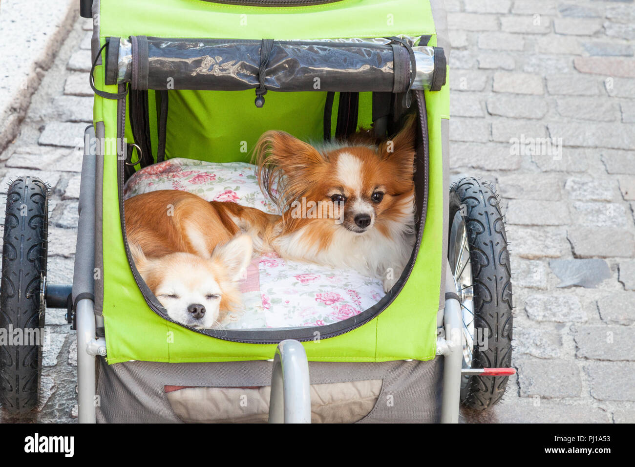
<svg viewBox="0 0 635 467"><path fill-rule="evenodd" d="M208 201L231 201L278 213L260 191L254 166L170 159L139 170L124 187L124 198L177 189ZM274 253L251 261L241 281L243 308L229 313L228 329L323 326L359 315L384 296L382 281L349 269L288 261Z"/></svg>

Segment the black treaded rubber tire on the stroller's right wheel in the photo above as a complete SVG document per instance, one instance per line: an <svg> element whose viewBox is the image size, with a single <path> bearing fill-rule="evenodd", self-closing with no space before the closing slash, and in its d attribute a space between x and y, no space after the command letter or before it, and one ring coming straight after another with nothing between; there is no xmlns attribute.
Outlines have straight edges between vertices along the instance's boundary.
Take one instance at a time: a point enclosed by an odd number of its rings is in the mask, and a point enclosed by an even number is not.
<svg viewBox="0 0 635 467"><path fill-rule="evenodd" d="M488 348L476 344L472 368L510 367L512 359L512 285L507 234L498 196L482 180L464 178L450 189L450 222L464 208L474 283L474 330L484 329ZM485 410L505 393L508 376L465 377L461 402Z"/></svg>

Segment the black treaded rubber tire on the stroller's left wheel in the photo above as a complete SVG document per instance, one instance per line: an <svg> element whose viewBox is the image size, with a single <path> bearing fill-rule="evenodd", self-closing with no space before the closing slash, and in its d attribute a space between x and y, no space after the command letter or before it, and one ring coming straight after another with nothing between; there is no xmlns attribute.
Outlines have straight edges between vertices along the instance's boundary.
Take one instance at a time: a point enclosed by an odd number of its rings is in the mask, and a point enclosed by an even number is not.
<svg viewBox="0 0 635 467"><path fill-rule="evenodd" d="M11 183L6 200L0 328L39 328L37 334L42 335L40 284L42 274L46 276L47 236L48 188L42 180L20 177ZM0 346L0 403L11 414L36 407L41 361L37 342Z"/></svg>

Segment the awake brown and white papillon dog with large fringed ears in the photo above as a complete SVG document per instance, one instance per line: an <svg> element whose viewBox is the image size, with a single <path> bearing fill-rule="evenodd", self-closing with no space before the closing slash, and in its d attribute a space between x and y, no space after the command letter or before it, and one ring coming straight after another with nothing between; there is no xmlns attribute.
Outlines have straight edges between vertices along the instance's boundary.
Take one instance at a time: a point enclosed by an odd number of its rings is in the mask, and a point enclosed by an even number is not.
<svg viewBox="0 0 635 467"><path fill-rule="evenodd" d="M381 277L390 290L415 243L415 120L378 144L363 133L315 146L264 133L258 181L283 213L265 243L283 258Z"/></svg>

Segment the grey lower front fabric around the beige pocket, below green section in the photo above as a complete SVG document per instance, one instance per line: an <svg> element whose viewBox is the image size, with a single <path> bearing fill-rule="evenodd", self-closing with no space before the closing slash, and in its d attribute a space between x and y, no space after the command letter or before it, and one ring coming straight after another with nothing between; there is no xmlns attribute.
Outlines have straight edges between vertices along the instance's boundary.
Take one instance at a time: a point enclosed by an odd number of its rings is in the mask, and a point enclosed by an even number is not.
<svg viewBox="0 0 635 467"><path fill-rule="evenodd" d="M369 422L439 421L442 358L430 362L310 362L311 384L383 379ZM99 423L179 423L164 386L269 386L271 362L156 363L107 365L99 358ZM388 396L392 396L390 399ZM392 402L392 405L391 403Z"/></svg>

